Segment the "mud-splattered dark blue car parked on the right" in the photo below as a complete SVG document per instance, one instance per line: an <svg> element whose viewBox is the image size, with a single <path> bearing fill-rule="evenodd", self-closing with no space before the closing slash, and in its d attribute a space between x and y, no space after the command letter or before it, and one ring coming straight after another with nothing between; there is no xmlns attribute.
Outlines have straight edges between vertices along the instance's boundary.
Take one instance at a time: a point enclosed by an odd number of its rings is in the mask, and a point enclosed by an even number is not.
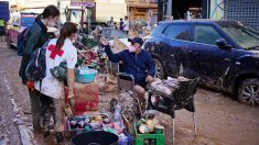
<svg viewBox="0 0 259 145"><path fill-rule="evenodd" d="M161 22L143 46L157 75L199 77L206 87L259 105L259 35L237 21Z"/></svg>

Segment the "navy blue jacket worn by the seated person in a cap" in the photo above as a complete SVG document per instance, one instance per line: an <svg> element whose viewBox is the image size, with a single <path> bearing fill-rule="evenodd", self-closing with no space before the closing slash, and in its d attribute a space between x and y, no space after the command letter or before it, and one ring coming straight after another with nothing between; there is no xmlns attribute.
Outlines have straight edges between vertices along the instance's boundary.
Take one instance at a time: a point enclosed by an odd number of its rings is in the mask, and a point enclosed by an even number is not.
<svg viewBox="0 0 259 145"><path fill-rule="evenodd" d="M151 55L142 49L139 54L130 53L125 49L120 53L114 54L110 46L105 47L105 52L112 63L122 60L122 71L131 74L134 77L134 82L142 87L145 86L145 77L148 75L154 77L155 67Z"/></svg>

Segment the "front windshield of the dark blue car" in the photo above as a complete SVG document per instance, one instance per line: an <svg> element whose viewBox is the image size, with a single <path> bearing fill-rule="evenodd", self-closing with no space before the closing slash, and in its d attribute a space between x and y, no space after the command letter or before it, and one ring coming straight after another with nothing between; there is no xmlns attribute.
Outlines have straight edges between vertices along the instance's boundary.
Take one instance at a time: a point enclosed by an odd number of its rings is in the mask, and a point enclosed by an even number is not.
<svg viewBox="0 0 259 145"><path fill-rule="evenodd" d="M251 49L259 47L259 35L245 26L223 26L223 30L241 47Z"/></svg>

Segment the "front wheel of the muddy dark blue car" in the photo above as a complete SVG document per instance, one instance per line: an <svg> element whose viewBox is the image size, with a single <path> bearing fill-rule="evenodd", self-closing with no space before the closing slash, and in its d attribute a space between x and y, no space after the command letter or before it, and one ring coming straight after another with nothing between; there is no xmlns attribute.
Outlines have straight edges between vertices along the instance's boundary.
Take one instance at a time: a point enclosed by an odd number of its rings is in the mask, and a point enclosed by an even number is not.
<svg viewBox="0 0 259 145"><path fill-rule="evenodd" d="M241 103L259 105L259 79L249 78L241 81L238 87L238 100Z"/></svg>

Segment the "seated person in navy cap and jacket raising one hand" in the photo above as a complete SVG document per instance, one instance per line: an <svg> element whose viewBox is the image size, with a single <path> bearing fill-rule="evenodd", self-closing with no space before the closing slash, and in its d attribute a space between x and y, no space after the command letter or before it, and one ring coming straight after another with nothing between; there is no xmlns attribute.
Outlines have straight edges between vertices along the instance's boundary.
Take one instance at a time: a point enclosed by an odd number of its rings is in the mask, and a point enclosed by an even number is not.
<svg viewBox="0 0 259 145"><path fill-rule="evenodd" d="M134 90L144 100L144 88L153 81L155 66L151 55L141 48L143 45L141 37L133 37L128 41L131 42L131 46L128 49L114 54L109 42L105 37L100 38L100 43L105 46L109 59L112 63L122 62L122 71L133 75L136 82Z"/></svg>

